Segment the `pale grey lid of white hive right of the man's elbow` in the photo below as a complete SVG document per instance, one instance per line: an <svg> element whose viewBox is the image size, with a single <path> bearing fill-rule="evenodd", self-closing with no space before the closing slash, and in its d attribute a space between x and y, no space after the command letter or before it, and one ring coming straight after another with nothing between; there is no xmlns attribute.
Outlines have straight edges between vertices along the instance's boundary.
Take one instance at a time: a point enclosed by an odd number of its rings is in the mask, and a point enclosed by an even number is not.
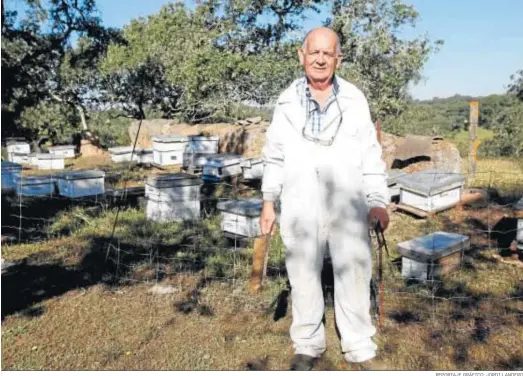
<svg viewBox="0 0 523 376"><path fill-rule="evenodd" d="M465 183L461 174L438 169L428 169L399 176L396 180L401 187L424 194L435 194L445 188L454 188Z"/></svg>

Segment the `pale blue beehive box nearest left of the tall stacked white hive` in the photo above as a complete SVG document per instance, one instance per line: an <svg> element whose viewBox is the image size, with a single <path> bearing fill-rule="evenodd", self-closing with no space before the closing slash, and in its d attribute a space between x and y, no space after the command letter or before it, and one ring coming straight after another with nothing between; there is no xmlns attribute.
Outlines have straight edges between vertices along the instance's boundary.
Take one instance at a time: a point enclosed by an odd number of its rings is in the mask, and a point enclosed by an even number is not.
<svg viewBox="0 0 523 376"><path fill-rule="evenodd" d="M56 176L58 192L69 198L103 195L105 172L100 170L65 171Z"/></svg>

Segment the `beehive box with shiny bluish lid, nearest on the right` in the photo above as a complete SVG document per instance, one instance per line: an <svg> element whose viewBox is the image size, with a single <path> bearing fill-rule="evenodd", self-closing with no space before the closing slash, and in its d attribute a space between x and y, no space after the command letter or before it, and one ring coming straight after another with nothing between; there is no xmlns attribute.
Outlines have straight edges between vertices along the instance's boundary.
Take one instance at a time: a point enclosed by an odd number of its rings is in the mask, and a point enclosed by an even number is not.
<svg viewBox="0 0 523 376"><path fill-rule="evenodd" d="M434 232L397 245L402 255L403 278L430 280L456 271L463 252L470 247L466 235Z"/></svg>

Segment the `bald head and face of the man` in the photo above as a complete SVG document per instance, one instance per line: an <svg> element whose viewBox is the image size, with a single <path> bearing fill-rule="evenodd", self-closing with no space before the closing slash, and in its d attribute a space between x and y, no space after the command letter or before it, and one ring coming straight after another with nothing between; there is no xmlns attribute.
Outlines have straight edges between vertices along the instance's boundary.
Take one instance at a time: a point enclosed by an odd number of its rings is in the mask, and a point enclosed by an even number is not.
<svg viewBox="0 0 523 376"><path fill-rule="evenodd" d="M334 34L320 31L309 35L305 49L299 50L300 63L311 81L330 80L340 66L336 43Z"/></svg>

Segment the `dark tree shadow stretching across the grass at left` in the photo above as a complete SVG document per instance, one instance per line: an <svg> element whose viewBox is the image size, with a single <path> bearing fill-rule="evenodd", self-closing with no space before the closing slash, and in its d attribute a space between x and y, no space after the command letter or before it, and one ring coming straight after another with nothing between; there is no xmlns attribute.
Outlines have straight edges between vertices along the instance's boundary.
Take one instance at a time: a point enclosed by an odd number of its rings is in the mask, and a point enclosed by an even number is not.
<svg viewBox="0 0 523 376"><path fill-rule="evenodd" d="M187 224L187 227L195 226ZM140 223L131 225L130 233L138 233L138 227ZM140 278L161 282L177 272L198 273L207 266L208 259L222 252L222 249L195 248L193 235L191 232L183 233L174 244L91 237L88 247L75 265L65 265L56 260L46 262L39 255L30 256L2 271L2 320L15 313L38 316L43 310L33 308L39 303L78 288L88 288L99 283L117 287ZM188 247L196 249L190 257L176 257L177 252ZM140 266L144 266L143 275L136 274L142 273ZM212 312L210 307L200 308L203 313Z"/></svg>

